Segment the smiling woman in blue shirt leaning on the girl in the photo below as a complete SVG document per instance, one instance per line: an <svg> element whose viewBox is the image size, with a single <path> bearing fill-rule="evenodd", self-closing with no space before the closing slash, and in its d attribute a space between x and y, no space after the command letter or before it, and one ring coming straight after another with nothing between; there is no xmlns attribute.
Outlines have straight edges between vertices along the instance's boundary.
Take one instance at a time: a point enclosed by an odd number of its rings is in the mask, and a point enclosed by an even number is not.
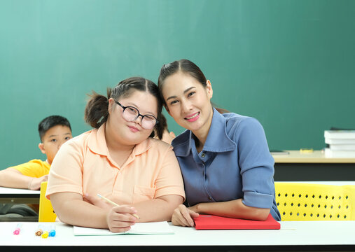
<svg viewBox="0 0 355 252"><path fill-rule="evenodd" d="M280 221L274 159L258 120L214 109L211 82L187 59L162 66L158 87L169 115L187 129L172 141L186 191L172 223L193 226L198 214Z"/></svg>

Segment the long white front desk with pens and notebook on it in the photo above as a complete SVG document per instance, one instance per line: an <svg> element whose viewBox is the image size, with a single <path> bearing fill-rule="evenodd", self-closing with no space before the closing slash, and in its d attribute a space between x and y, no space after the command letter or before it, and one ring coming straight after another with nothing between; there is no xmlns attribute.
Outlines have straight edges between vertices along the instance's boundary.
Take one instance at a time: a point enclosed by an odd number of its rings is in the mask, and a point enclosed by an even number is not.
<svg viewBox="0 0 355 252"><path fill-rule="evenodd" d="M283 250L324 251L329 248L355 250L355 221L284 221L281 230L195 230L172 226L174 235L114 235L76 237L73 227L56 223L55 237L43 239L34 232L38 223L22 223L20 235L13 235L17 223L0 223L1 251L4 246L48 251L54 246L65 246L78 251L78 246L92 246L92 251L130 251L134 249L164 248L165 251L233 251ZM24 248L27 246L27 248ZM169 248L167 248L169 247ZM247 248L247 249L246 249ZM122 250L124 249L124 250ZM86 248L85 248L86 250Z"/></svg>

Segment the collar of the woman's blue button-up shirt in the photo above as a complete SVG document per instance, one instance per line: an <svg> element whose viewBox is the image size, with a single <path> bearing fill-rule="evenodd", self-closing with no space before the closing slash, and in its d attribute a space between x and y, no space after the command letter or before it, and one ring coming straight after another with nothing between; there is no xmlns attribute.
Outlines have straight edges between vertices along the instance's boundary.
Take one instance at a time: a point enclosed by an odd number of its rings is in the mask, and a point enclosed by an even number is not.
<svg viewBox="0 0 355 252"><path fill-rule="evenodd" d="M172 141L175 155L186 157L191 151L192 144L195 144L195 141L193 141L193 132L186 130ZM211 127L209 128L209 134L202 151L220 153L234 151L235 148L237 148L237 145L228 137L226 132L225 117L214 109Z"/></svg>

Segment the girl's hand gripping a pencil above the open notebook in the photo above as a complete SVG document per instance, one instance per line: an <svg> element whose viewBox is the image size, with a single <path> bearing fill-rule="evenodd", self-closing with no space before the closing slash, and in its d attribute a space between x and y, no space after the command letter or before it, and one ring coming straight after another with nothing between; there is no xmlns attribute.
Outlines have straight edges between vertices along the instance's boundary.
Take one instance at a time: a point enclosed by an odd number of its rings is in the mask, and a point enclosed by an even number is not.
<svg viewBox="0 0 355 252"><path fill-rule="evenodd" d="M137 221L137 218L132 216L137 214L134 207L122 205L120 207L113 207L109 214L107 214L106 221L111 232L125 232L131 229Z"/></svg>

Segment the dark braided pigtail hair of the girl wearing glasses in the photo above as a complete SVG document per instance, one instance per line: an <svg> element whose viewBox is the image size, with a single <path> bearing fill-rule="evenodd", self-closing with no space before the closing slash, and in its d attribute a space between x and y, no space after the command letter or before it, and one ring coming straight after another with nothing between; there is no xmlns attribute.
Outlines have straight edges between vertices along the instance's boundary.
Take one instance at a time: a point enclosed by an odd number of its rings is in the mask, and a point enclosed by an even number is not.
<svg viewBox="0 0 355 252"><path fill-rule="evenodd" d="M92 91L89 94L90 100L85 107L85 122L91 127L98 129L103 125L109 117L109 99L120 99L120 97L129 97L134 91L146 91L152 94L158 102L158 123L155 125L151 136L154 137L155 133L159 139L162 139L162 133L166 125L166 119L162 114L162 99L160 98L158 86L151 80L141 77L132 77L120 81L113 88L107 88L107 97L97 92Z"/></svg>

